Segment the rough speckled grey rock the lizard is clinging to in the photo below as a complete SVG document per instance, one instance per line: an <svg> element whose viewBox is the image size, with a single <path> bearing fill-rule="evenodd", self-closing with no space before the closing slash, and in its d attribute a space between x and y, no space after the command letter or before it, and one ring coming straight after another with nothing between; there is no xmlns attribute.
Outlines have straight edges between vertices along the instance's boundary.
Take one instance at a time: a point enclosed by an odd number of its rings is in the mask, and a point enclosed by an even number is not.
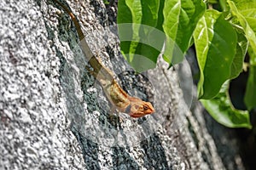
<svg viewBox="0 0 256 170"><path fill-rule="evenodd" d="M93 53L125 77L131 67L109 28L116 3L67 5ZM230 169L207 132L201 105L189 111L177 70L167 70L161 59L144 74L156 113L140 120L120 114L119 122L84 69L77 32L61 7L51 0L2 0L0 22L0 169ZM122 84L135 93L128 80ZM231 164L243 168L241 161Z"/></svg>

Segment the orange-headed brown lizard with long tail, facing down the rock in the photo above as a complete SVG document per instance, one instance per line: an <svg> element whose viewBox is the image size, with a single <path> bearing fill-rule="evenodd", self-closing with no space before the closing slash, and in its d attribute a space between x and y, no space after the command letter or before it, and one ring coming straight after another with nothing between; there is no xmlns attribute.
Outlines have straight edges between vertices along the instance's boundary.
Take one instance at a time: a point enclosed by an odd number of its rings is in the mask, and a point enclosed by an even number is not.
<svg viewBox="0 0 256 170"><path fill-rule="evenodd" d="M82 49L85 58L89 59L88 63L93 68L92 75L96 77L98 82L100 82L104 93L114 108L120 112L129 114L129 116L133 118L139 118L154 113L154 107L150 102L143 101L137 97L131 97L127 94L114 79L113 72L102 65L99 59L96 59L96 55L92 54L89 45L84 38L85 36L81 26L79 25L79 20L73 14L71 9L67 8L67 6L58 0L53 1L59 4L73 20L74 26L79 35L80 48Z"/></svg>

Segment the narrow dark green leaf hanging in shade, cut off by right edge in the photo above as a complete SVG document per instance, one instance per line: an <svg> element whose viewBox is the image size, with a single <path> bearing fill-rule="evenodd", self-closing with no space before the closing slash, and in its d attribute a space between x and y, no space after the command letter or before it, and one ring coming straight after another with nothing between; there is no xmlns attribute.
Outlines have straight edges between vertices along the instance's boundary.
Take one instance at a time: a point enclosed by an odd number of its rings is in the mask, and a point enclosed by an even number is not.
<svg viewBox="0 0 256 170"><path fill-rule="evenodd" d="M256 58L256 54L253 54L252 48L248 48L248 53L250 54L251 59ZM244 102L249 111L256 107L256 65L250 65L249 68L249 77L247 80Z"/></svg>

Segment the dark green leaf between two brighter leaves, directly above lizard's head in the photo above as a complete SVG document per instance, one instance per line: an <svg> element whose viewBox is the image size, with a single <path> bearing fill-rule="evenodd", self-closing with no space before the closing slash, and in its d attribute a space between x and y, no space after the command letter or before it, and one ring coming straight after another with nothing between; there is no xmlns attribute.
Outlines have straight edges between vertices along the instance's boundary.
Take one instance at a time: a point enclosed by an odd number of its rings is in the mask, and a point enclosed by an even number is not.
<svg viewBox="0 0 256 170"><path fill-rule="evenodd" d="M164 3L159 0L142 0L141 3L143 25L139 30L140 42L137 44L136 57L131 61L131 66L138 72L155 67L166 37L161 27L163 20L161 9Z"/></svg>

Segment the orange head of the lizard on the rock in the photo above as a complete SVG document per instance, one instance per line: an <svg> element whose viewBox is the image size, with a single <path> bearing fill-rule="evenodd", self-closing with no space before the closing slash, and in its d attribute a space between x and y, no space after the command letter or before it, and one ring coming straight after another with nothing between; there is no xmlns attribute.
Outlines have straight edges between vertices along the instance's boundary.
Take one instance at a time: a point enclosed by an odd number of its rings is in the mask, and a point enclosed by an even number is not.
<svg viewBox="0 0 256 170"><path fill-rule="evenodd" d="M130 98L130 102L125 112L133 118L139 118L154 113L154 107L150 102L137 98Z"/></svg>

